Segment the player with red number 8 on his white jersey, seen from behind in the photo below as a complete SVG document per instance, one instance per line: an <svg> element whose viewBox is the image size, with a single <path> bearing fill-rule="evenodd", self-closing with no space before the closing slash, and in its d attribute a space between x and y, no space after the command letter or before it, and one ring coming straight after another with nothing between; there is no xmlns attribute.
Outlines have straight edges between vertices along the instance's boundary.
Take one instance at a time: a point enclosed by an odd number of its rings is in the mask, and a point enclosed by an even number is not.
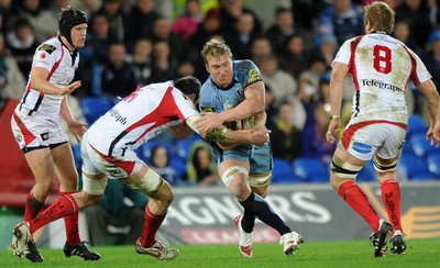
<svg viewBox="0 0 440 268"><path fill-rule="evenodd" d="M327 132L330 142L336 142L336 131L341 126L343 81L348 75L355 87L352 116L331 163L330 185L371 226L375 257L384 255L388 235L392 235L392 254L403 254L406 248L395 169L407 131L405 92L409 81L421 91L428 104L431 125L427 139L432 138L436 115L440 119L439 94L424 63L389 35L394 18L394 10L385 2L367 5L366 34L344 42L332 63L330 80L331 116ZM372 158L391 223L381 219L355 183L358 172Z"/></svg>

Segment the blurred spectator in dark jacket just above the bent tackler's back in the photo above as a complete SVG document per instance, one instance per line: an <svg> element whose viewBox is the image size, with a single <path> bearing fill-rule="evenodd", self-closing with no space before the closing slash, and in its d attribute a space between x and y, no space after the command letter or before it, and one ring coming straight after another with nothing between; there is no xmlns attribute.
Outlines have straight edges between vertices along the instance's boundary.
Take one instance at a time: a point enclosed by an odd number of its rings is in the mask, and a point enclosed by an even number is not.
<svg viewBox="0 0 440 268"><path fill-rule="evenodd" d="M136 89L139 81L134 75L133 65L125 62L125 45L114 42L109 46L108 62L101 74L101 90L110 99L124 98Z"/></svg>

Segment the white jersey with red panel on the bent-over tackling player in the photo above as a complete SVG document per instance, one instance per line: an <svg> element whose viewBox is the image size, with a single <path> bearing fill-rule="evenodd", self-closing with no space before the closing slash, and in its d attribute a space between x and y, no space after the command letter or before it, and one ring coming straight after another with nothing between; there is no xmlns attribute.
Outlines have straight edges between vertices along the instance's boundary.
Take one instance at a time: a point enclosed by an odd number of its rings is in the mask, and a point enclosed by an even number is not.
<svg viewBox="0 0 440 268"><path fill-rule="evenodd" d="M172 81L138 88L87 131L87 142L107 156L124 156L169 126L185 122L197 114Z"/></svg>

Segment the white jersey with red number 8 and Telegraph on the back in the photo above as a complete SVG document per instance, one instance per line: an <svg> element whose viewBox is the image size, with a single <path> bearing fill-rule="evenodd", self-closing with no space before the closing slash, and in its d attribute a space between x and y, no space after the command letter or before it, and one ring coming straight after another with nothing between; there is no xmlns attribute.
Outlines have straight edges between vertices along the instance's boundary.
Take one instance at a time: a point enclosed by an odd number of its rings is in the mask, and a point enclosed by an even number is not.
<svg viewBox="0 0 440 268"><path fill-rule="evenodd" d="M400 41L384 32L361 35L344 42L334 63L349 66L355 92L352 121L382 120L407 123L405 92L431 79L420 58Z"/></svg>

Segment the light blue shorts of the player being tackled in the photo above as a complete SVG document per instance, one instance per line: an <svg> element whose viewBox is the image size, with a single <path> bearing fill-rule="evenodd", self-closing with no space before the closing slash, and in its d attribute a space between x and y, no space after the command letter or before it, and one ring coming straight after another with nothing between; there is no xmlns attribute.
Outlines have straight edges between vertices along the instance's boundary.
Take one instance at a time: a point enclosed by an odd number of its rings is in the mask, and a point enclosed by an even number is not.
<svg viewBox="0 0 440 268"><path fill-rule="evenodd" d="M217 146L212 146L212 153L216 156L216 163L228 159L237 159L249 161L251 166L251 174L266 174L273 169L273 158L271 144L263 146L240 145L233 149L222 150Z"/></svg>

